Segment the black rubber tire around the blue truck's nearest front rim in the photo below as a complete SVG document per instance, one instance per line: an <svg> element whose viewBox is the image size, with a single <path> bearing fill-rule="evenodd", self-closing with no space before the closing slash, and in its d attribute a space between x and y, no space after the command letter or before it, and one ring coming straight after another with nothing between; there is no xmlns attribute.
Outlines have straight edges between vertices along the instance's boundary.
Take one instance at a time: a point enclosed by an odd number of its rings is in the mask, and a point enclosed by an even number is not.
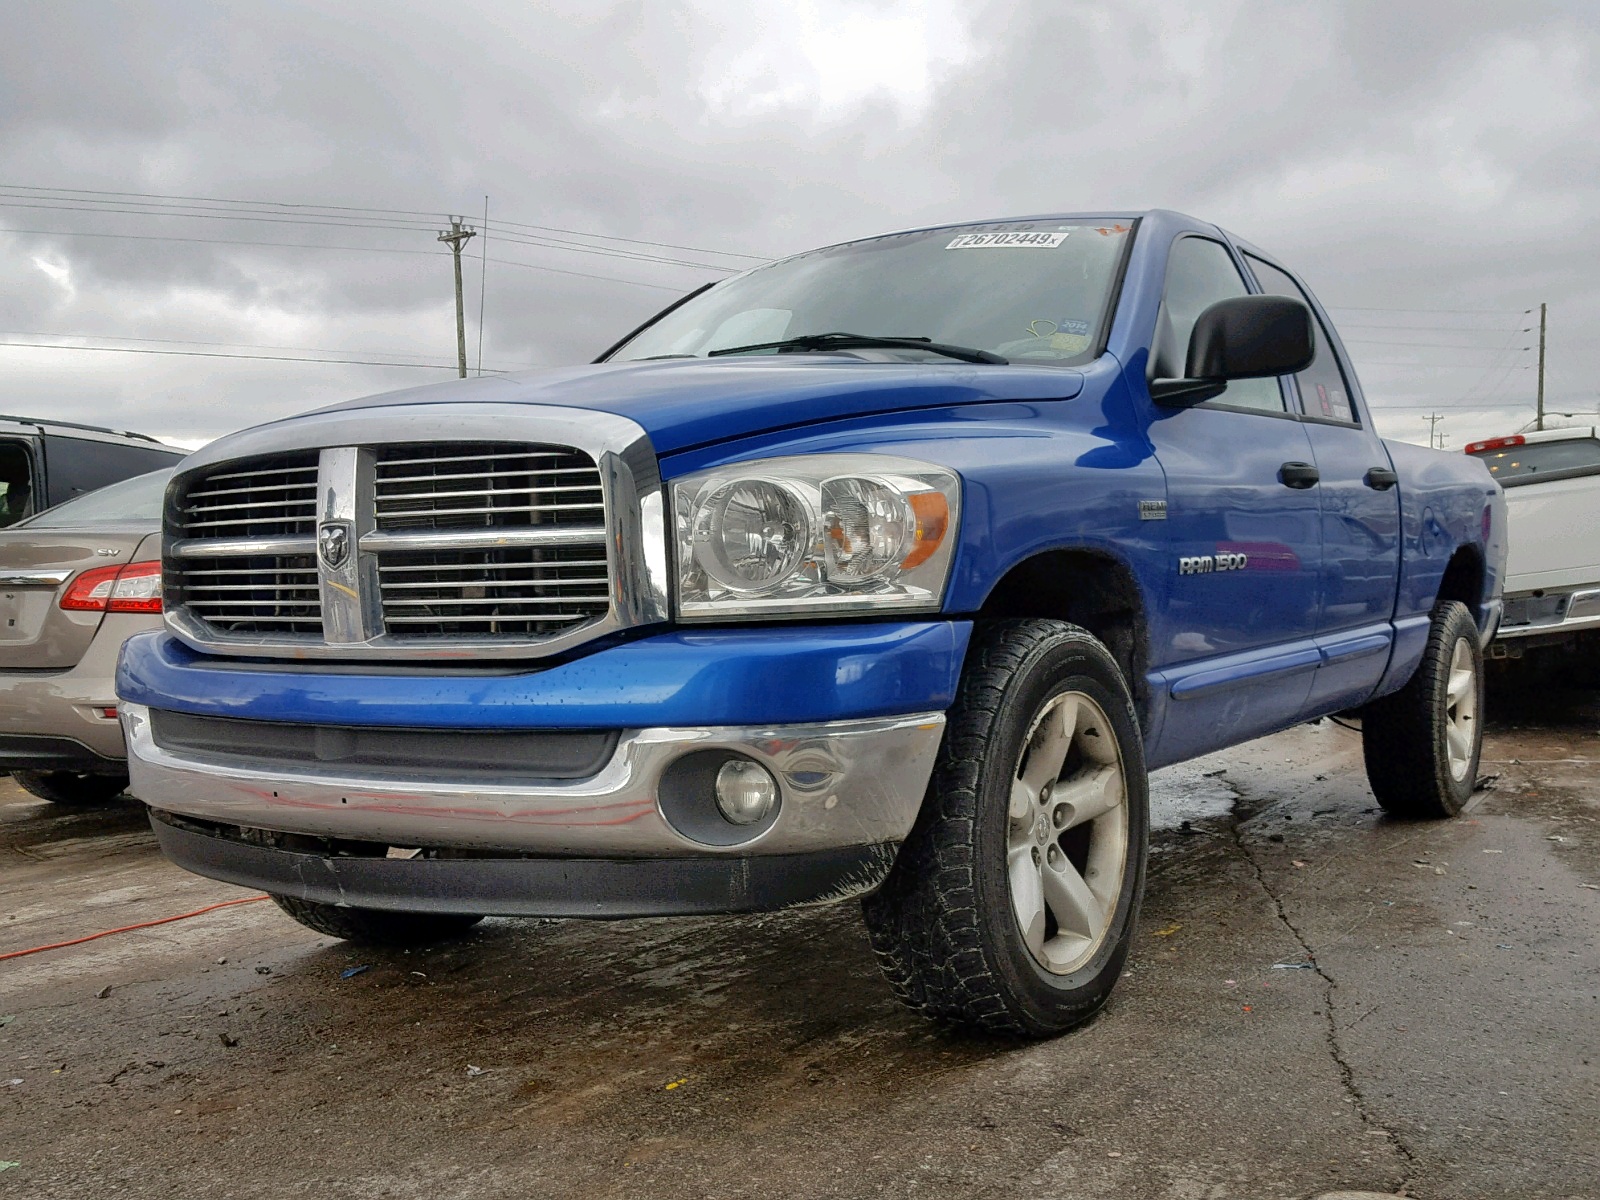
<svg viewBox="0 0 1600 1200"><path fill-rule="evenodd" d="M1013 784L1027 774L1024 742L1069 693L1091 699L1096 723L1102 715L1110 726L1125 846L1115 851L1120 885L1099 941L1080 966L1054 973L1024 941L1008 854L1016 853L1019 827ZM1005 1037L1054 1037L1088 1021L1110 997L1144 891L1149 798L1133 698L1115 659L1086 630L1062 621L1005 621L976 632L947 722L917 824L883 888L862 901L874 952L894 994L934 1021ZM1091 827L1098 829L1078 826ZM1048 835L1045 829L1042 837ZM1040 845L1072 854L1069 837L1072 830ZM1077 861L1074 867L1096 874ZM1053 912L1043 920L1056 928L1046 930L1048 938L1062 933Z"/></svg>

